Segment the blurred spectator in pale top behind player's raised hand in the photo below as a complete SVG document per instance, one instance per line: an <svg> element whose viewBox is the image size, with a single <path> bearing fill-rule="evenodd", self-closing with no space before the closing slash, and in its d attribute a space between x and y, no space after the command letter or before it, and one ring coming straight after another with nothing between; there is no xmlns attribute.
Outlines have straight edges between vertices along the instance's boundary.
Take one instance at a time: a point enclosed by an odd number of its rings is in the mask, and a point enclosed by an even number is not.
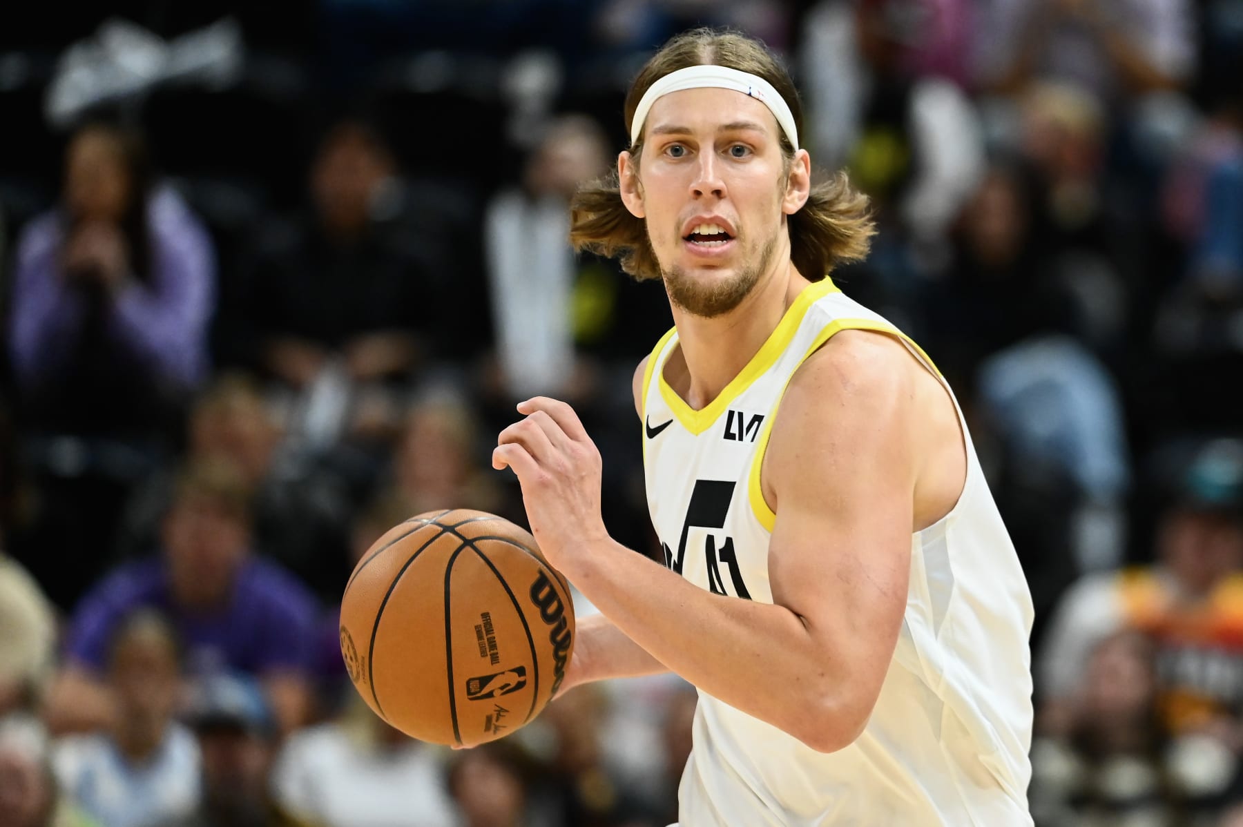
<svg viewBox="0 0 1243 827"><path fill-rule="evenodd" d="M561 115L527 158L521 185L488 205L487 278L498 390L507 400L593 397L607 381L602 370L622 360L629 375L672 327L663 291L566 245L571 197L610 165L600 125L588 115Z"/></svg>

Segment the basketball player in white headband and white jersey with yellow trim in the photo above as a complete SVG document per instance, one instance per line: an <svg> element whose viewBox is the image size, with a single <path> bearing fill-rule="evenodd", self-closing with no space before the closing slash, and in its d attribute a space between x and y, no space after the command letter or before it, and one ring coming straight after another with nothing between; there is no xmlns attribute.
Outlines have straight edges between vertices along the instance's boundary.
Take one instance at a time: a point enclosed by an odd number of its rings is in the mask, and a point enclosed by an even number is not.
<svg viewBox="0 0 1243 827"><path fill-rule="evenodd" d="M566 683L695 684L682 827L1030 825L1030 596L936 368L827 276L866 252L865 199L812 183L793 83L743 36L672 40L625 111L573 240L672 305L634 379L665 566L609 538L568 405L522 402L492 454L602 612Z"/></svg>

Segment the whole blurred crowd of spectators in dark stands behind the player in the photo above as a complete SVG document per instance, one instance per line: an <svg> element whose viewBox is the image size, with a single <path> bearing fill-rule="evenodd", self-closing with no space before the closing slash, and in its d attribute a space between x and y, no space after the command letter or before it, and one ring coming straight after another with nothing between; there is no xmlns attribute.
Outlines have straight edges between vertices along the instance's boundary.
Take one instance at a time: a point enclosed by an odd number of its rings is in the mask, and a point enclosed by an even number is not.
<svg viewBox="0 0 1243 827"><path fill-rule="evenodd" d="M1038 611L1037 823L1243 825L1243 0L108 6L0 9L0 825L675 820L679 679L450 752L360 704L336 606L413 514L525 523L488 456L534 394L659 559L629 377L669 307L567 204L694 25L784 56L880 226L835 281L967 414Z"/></svg>

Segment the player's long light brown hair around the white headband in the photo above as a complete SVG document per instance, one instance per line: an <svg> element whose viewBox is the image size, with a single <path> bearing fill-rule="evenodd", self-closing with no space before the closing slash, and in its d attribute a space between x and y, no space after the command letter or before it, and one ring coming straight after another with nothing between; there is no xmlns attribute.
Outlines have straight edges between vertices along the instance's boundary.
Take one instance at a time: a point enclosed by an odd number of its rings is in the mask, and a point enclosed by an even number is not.
<svg viewBox="0 0 1243 827"><path fill-rule="evenodd" d="M644 65L625 99L625 128L630 133L639 101L653 83L687 66L715 65L736 68L764 78L786 99L794 123L803 132L803 107L789 73L763 43L733 31L695 29L670 40ZM638 168L644 137L630 147ZM781 135L787 163L794 155L789 139ZM868 255L875 226L868 196L850 186L844 171L813 184L807 204L789 216L791 260L804 277L818 281L840 263L859 261ZM622 202L614 171L593 181L571 202L571 243L608 257L620 257L622 268L639 281L660 278L660 264L648 238L648 226Z"/></svg>

